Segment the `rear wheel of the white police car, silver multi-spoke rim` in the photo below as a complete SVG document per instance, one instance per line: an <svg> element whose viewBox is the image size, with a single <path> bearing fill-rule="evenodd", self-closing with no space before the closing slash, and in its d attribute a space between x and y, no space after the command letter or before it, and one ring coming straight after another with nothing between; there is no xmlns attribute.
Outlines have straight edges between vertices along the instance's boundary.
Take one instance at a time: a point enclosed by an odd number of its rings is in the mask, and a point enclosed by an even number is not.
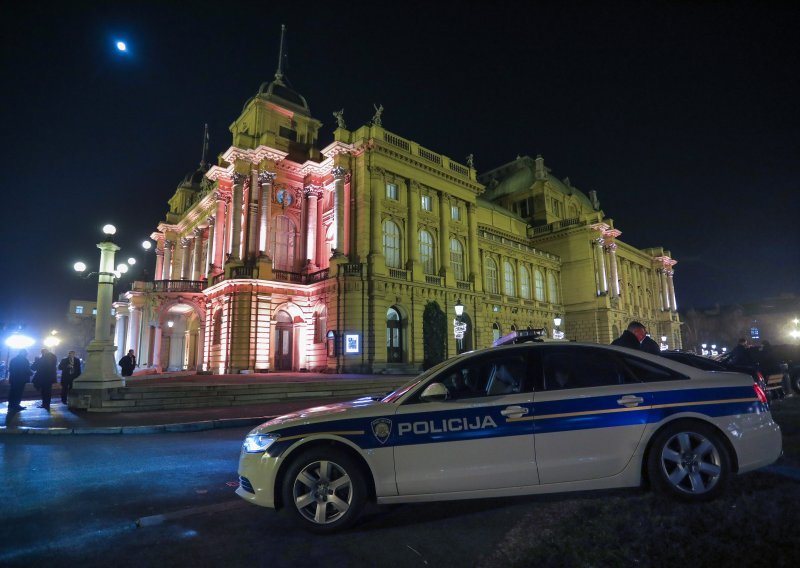
<svg viewBox="0 0 800 568"><path fill-rule="evenodd" d="M711 426L676 422L653 440L647 473L661 493L682 501L709 501L725 489L731 457L721 435Z"/></svg>

